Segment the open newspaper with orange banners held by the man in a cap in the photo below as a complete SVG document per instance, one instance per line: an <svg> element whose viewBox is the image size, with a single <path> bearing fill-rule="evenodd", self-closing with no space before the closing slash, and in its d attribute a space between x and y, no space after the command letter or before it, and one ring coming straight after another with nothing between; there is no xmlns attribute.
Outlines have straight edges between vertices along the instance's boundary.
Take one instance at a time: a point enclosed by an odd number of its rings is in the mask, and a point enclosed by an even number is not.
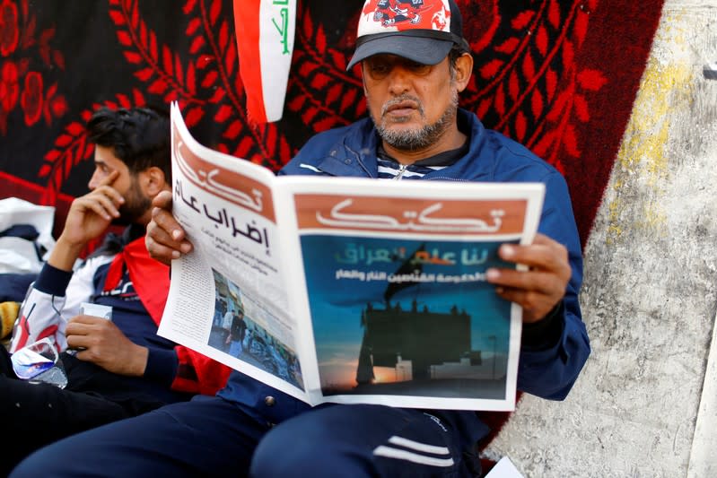
<svg viewBox="0 0 717 478"><path fill-rule="evenodd" d="M275 177L197 143L172 106L159 334L308 404L509 411L521 311L485 282L529 243L541 184Z"/></svg>

